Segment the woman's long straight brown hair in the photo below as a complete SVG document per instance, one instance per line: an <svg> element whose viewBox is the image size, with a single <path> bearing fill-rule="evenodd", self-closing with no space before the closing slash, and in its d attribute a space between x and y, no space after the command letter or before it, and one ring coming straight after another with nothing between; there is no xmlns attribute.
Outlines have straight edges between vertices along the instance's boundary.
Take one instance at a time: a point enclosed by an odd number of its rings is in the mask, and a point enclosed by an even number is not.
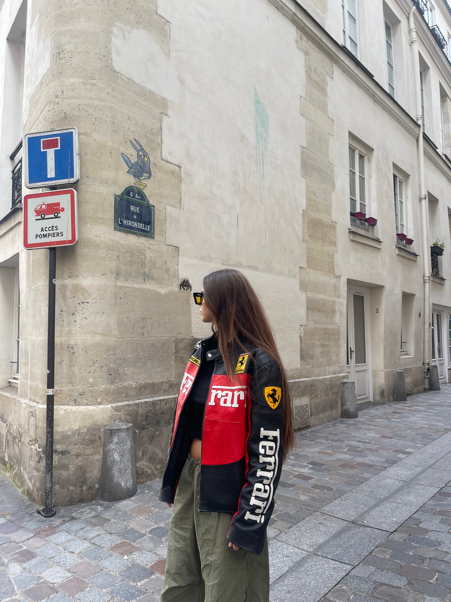
<svg viewBox="0 0 451 602"><path fill-rule="evenodd" d="M266 312L248 279L238 270L224 269L205 276L204 302L215 317L219 349L227 376L235 380L233 350L247 349L239 335L268 353L280 368L283 396L284 459L296 447L293 430L292 400L286 371L275 345L274 335Z"/></svg>

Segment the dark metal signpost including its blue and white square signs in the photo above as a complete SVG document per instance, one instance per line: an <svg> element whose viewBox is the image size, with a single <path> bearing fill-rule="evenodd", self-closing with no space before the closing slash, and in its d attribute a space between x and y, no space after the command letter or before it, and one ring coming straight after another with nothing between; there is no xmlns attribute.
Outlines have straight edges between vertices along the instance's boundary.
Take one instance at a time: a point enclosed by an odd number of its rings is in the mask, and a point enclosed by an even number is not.
<svg viewBox="0 0 451 602"><path fill-rule="evenodd" d="M25 136L27 188L69 184L78 181L78 178L76 129ZM56 512L53 504L53 456L57 247L75 244L77 239L77 193L73 188L26 194L23 197L23 246L25 249L49 249L45 500L44 507L38 509L43 517L52 517Z"/></svg>

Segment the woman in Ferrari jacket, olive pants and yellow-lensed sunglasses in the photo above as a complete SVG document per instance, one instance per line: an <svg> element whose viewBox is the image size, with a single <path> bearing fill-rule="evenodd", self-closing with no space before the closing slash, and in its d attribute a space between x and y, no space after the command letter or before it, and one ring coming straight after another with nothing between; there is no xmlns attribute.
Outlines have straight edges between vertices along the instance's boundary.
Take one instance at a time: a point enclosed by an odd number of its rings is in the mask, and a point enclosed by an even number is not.
<svg viewBox="0 0 451 602"><path fill-rule="evenodd" d="M295 445L287 377L241 272L209 274L194 301L213 336L194 347L174 412L161 601L268 602L266 527Z"/></svg>

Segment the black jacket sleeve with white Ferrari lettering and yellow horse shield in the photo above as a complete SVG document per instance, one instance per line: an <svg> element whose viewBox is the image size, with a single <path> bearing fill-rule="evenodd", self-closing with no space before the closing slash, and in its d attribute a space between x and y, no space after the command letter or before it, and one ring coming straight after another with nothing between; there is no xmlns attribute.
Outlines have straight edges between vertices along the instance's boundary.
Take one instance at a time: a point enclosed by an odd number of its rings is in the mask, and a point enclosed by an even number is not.
<svg viewBox="0 0 451 602"><path fill-rule="evenodd" d="M246 482L227 539L261 554L266 527L283 462L282 379L278 365L268 362L251 380L250 432L247 439Z"/></svg>

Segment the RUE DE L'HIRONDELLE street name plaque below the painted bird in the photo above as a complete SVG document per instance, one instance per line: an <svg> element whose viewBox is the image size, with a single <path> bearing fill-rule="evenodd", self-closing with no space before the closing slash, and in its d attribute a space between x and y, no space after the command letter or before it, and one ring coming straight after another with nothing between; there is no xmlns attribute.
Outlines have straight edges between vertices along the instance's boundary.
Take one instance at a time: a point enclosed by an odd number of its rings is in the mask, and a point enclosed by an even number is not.
<svg viewBox="0 0 451 602"><path fill-rule="evenodd" d="M155 236L155 205L137 186L127 186L114 195L114 229L118 232Z"/></svg>

